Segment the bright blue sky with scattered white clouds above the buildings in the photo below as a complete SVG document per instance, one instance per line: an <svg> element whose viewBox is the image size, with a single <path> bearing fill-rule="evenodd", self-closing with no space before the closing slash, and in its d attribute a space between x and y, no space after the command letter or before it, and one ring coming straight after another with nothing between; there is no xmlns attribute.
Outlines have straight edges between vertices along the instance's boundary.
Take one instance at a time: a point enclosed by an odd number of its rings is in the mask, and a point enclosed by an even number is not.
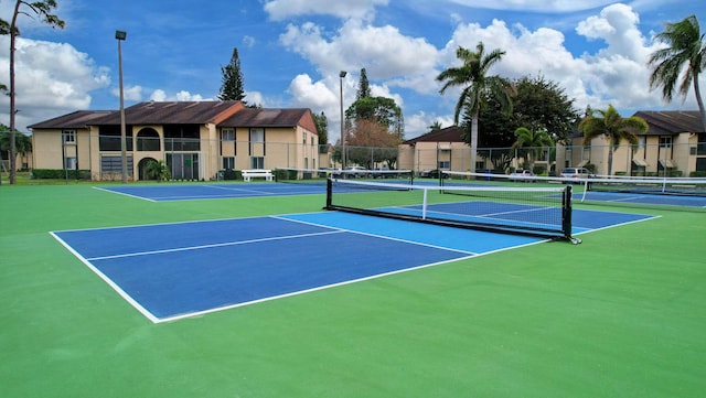
<svg viewBox="0 0 706 398"><path fill-rule="evenodd" d="M355 97L361 68L373 94L403 107L406 137L452 123L458 92L439 94L435 77L457 65L456 49L506 51L491 73L543 75L576 107L696 109L693 95L664 104L648 87L652 37L667 21L696 14L700 0L57 0L64 30L21 17L18 128L78 109L117 109L116 30L122 43L126 106L146 100L216 99L221 67L238 49L246 100L306 107L340 126ZM9 20L14 1L0 2ZM9 82L9 40L0 37L0 82ZM702 79L702 84L704 79ZM0 98L9 125L9 100Z"/></svg>

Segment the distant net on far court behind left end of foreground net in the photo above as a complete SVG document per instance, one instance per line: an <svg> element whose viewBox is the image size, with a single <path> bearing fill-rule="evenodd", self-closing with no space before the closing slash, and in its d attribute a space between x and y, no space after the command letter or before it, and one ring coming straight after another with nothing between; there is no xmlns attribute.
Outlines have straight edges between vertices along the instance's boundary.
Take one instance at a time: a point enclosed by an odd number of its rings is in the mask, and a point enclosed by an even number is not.
<svg viewBox="0 0 706 398"><path fill-rule="evenodd" d="M281 168L275 170L275 181L296 184L325 185L329 178L359 181L386 181L395 183L411 183L411 170L366 170L350 169L295 169Z"/></svg>

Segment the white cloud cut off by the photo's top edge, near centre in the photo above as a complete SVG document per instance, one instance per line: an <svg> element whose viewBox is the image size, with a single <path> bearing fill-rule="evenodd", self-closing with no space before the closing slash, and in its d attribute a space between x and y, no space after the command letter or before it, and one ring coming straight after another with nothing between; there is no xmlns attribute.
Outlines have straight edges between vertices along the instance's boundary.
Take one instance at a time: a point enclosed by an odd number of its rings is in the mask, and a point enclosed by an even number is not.
<svg viewBox="0 0 706 398"><path fill-rule="evenodd" d="M338 18L371 19L375 7L387 6L388 0L270 0L265 3L265 11L270 19L281 21L299 15L324 14Z"/></svg>

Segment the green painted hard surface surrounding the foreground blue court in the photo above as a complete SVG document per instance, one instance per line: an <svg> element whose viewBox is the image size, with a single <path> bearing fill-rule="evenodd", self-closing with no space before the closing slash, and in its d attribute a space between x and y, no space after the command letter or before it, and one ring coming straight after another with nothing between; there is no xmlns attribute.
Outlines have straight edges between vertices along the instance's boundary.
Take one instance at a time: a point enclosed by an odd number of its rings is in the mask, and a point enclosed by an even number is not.
<svg viewBox="0 0 706 398"><path fill-rule="evenodd" d="M534 245L161 324L49 234L318 212L323 202L152 203L83 183L3 184L0 397L706 391L705 212L634 209L662 217L581 235L577 246Z"/></svg>

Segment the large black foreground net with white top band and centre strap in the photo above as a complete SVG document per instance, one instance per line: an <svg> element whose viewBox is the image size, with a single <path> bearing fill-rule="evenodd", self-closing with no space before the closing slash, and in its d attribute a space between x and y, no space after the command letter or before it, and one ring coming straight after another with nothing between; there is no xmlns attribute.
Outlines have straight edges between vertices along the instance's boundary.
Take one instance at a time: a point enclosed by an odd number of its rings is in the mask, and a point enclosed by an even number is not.
<svg viewBox="0 0 706 398"><path fill-rule="evenodd" d="M436 225L571 237L571 186L431 186L330 179L327 209Z"/></svg>

